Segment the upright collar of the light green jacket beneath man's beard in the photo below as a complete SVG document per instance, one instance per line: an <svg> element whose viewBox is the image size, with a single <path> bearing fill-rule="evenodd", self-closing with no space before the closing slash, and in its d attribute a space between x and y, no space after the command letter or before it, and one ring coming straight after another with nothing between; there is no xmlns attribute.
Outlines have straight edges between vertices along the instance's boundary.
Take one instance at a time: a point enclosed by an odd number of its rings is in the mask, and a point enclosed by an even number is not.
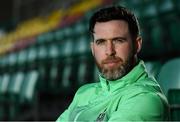
<svg viewBox="0 0 180 122"><path fill-rule="evenodd" d="M100 84L102 86L103 91L114 92L117 89L121 89L124 86L135 83L142 75L145 77L147 73L145 73L145 65L142 60L125 76L117 80L106 80L104 77L99 75Z"/></svg>

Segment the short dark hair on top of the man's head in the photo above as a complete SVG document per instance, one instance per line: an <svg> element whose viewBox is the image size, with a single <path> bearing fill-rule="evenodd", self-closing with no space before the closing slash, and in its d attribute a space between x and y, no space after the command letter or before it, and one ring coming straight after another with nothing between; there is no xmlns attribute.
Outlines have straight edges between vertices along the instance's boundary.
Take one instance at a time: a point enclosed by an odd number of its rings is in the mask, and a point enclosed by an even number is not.
<svg viewBox="0 0 180 122"><path fill-rule="evenodd" d="M140 29L136 16L122 6L105 7L95 12L89 21L89 31L91 34L94 33L94 26L96 22L107 22L111 20L126 21L128 23L132 39L136 39L138 37Z"/></svg>

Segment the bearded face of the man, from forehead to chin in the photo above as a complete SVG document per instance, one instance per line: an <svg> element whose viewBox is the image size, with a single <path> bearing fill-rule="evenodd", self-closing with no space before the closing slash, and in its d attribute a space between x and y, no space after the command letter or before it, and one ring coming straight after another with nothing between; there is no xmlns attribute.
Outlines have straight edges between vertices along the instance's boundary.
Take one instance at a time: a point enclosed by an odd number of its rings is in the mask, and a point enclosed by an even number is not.
<svg viewBox="0 0 180 122"><path fill-rule="evenodd" d="M134 63L137 48L132 43L128 23L121 20L97 22L94 27L92 53L102 75L108 80L121 78ZM139 49L138 49L139 50Z"/></svg>

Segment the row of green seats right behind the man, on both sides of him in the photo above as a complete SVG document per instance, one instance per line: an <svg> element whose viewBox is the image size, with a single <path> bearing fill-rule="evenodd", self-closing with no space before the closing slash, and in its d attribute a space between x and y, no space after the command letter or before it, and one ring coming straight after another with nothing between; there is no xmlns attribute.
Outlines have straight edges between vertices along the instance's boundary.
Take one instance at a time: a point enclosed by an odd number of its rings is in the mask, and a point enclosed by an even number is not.
<svg viewBox="0 0 180 122"><path fill-rule="evenodd" d="M150 75L157 79L168 97L171 120L179 120L180 58L166 62L146 62L145 65ZM36 71L18 71L0 76L0 101L4 106L4 109L0 110L2 112L7 108L10 109L8 115L4 115L5 117L13 118L19 109L18 104L27 104L28 101L33 105L36 90L68 95L81 85L98 80L98 71L93 61L84 56L78 59L54 62L53 65L42 64L38 68ZM1 115L4 117L3 112Z"/></svg>

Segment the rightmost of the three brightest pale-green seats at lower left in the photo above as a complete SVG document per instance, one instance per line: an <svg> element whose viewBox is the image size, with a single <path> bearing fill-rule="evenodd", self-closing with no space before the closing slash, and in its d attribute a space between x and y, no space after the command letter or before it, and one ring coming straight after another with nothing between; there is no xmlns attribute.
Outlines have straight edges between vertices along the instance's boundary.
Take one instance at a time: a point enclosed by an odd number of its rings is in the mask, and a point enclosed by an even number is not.
<svg viewBox="0 0 180 122"><path fill-rule="evenodd" d="M38 113L38 79L39 72L36 70L31 70L26 73L26 78L23 81L21 91L20 91L20 103L23 105L28 105L26 116L32 120L37 120ZM21 112L21 114L23 111ZM21 115L20 115L21 116Z"/></svg>

